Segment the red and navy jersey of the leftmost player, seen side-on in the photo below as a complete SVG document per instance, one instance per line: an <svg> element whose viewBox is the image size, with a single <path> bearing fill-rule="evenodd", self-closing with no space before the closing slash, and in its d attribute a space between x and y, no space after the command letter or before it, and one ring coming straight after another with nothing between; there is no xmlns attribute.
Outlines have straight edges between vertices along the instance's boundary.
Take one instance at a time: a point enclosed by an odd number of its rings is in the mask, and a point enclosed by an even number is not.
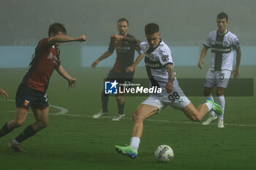
<svg viewBox="0 0 256 170"><path fill-rule="evenodd" d="M53 70L61 64L59 54L59 48L48 45L48 38L41 39L22 83L34 90L46 91Z"/></svg>

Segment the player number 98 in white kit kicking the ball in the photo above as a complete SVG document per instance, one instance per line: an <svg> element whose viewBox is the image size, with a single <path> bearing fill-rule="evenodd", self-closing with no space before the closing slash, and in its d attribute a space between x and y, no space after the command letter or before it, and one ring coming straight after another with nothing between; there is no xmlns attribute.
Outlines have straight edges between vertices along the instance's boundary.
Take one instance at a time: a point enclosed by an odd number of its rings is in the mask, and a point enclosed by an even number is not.
<svg viewBox="0 0 256 170"><path fill-rule="evenodd" d="M113 35L111 39L118 42L121 40L134 43L146 54L145 64L150 86L162 88L162 93L151 94L136 109L133 115L132 139L126 147L115 146L115 150L129 158L138 156L140 137L143 134L143 120L157 114L161 109L171 106L180 109L189 119L200 121L203 116L214 109L215 112L222 114L222 107L211 100L205 104L200 104L197 109L184 95L175 77L174 63L170 48L162 41L159 33L159 26L156 23L148 23L145 26L147 42L140 42L138 39L127 36ZM117 43L118 44L118 43ZM150 87L150 88L151 88Z"/></svg>

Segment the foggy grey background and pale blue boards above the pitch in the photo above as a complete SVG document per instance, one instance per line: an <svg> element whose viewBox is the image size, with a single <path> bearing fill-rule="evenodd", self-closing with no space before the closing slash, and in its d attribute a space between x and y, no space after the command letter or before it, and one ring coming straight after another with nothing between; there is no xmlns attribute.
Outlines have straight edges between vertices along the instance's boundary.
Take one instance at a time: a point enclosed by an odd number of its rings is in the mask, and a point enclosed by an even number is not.
<svg viewBox="0 0 256 170"><path fill-rule="evenodd" d="M70 46L69 48L72 49L66 48L65 53L69 54L73 50L75 55L79 55L74 66L77 63L90 66L92 61L108 50L110 35L118 33L116 24L119 18L127 18L129 33L143 41L146 40L144 26L147 23L157 23L160 26L162 39L171 47L173 53L177 52L178 55L192 53L196 58L190 60L194 61L192 63L195 65L207 34L217 29L216 18L219 12L227 13L229 17L227 29L238 36L242 58L244 55L249 55L251 58L249 61L243 61L243 58L241 64L243 62L256 64L256 61L252 62L255 60L252 56L255 55L253 51L256 46L255 0L0 0L0 2L0 67L12 67L14 64L12 57L15 57L15 60L23 58L20 62L24 61L28 66L27 62L34 53L34 47L40 39L48 36L48 26L54 22L64 23L69 36L80 36L80 34L87 36L87 42L69 42L63 44L63 48L65 51L65 46ZM115 57L110 61L106 59L102 62L106 65L99 64L99 66L113 66L114 60ZM183 61L184 59L177 62Z"/></svg>

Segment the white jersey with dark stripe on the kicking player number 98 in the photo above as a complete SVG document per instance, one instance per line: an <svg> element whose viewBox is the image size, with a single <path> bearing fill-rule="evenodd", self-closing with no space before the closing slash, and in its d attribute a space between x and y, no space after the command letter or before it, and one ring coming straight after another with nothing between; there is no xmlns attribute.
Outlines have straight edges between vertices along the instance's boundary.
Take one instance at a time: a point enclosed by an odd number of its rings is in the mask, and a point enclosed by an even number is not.
<svg viewBox="0 0 256 170"><path fill-rule="evenodd" d="M165 65L173 63L172 53L170 48L165 42L160 40L159 45L151 49L148 42L140 42L140 49L143 50L145 55L145 65L148 78L150 80L150 87L157 86L165 89L165 85L168 82L168 74L165 69Z"/></svg>

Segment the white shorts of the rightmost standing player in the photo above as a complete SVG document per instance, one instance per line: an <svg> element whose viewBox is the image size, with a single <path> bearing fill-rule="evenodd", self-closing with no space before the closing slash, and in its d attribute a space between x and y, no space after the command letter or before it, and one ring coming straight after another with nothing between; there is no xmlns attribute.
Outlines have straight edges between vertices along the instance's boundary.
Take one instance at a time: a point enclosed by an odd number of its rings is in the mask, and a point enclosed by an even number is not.
<svg viewBox="0 0 256 170"><path fill-rule="evenodd" d="M214 88L215 86L227 88L228 81L230 80L230 70L214 71L209 69L206 74L206 82L204 87Z"/></svg>

